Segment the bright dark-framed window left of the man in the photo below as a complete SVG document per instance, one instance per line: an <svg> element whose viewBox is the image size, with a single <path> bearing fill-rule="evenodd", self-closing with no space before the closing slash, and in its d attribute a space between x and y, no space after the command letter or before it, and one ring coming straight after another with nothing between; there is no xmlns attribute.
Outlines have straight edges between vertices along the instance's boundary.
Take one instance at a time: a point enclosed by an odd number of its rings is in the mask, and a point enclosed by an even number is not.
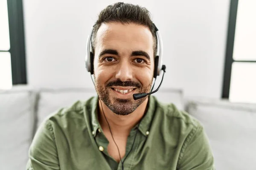
<svg viewBox="0 0 256 170"><path fill-rule="evenodd" d="M0 0L0 89L26 84L22 0Z"/></svg>

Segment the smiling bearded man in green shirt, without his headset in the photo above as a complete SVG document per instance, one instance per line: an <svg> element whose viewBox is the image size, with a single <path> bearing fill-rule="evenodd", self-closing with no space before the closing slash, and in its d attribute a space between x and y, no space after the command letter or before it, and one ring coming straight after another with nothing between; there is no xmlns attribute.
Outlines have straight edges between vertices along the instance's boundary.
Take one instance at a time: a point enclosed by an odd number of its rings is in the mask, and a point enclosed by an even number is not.
<svg viewBox="0 0 256 170"><path fill-rule="evenodd" d="M213 170L203 127L151 91L156 28L145 8L115 3L92 34L98 96L48 117L29 150L28 170Z"/></svg>

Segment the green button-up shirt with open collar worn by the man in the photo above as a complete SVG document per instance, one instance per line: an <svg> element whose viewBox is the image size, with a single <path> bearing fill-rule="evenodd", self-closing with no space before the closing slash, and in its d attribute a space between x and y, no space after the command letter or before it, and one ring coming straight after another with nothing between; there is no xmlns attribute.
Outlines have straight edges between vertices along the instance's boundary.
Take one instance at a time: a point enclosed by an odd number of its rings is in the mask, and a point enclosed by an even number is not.
<svg viewBox="0 0 256 170"><path fill-rule="evenodd" d="M97 111L96 96L49 116L35 134L26 169L122 170L121 162L108 154L108 139L98 122ZM164 105L154 96L149 97L148 111L128 136L126 155L137 128L124 170L215 169L203 127L175 105Z"/></svg>

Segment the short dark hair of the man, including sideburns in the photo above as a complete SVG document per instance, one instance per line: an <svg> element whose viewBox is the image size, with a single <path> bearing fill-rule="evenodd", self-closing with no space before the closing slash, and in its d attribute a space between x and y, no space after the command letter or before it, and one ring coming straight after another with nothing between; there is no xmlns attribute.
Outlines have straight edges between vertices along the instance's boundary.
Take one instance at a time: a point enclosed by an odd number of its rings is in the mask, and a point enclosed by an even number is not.
<svg viewBox="0 0 256 170"><path fill-rule="evenodd" d="M157 54L157 35L154 23L151 20L150 12L141 6L130 3L114 3L107 6L99 13L99 18L96 21L92 33L93 53L96 44L96 34L102 23L122 23L122 24L139 24L149 28L154 40L154 57Z"/></svg>

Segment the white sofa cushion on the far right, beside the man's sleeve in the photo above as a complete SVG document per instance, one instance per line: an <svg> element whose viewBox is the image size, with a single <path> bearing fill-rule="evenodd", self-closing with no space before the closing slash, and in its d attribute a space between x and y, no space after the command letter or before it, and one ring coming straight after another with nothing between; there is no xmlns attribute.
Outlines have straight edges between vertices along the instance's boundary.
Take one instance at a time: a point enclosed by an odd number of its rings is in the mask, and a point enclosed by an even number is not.
<svg viewBox="0 0 256 170"><path fill-rule="evenodd" d="M256 105L194 99L187 111L205 127L217 170L256 170Z"/></svg>

